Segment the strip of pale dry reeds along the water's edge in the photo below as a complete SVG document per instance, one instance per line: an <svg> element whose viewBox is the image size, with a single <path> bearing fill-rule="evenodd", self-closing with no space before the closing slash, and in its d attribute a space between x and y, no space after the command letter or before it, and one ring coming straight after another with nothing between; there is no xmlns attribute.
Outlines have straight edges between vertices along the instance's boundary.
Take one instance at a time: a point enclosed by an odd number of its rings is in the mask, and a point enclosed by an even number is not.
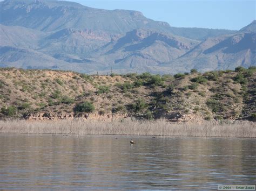
<svg viewBox="0 0 256 191"><path fill-rule="evenodd" d="M256 137L253 122L226 124L174 124L158 121L0 121L0 133L44 133L66 135L147 135L197 137Z"/></svg>

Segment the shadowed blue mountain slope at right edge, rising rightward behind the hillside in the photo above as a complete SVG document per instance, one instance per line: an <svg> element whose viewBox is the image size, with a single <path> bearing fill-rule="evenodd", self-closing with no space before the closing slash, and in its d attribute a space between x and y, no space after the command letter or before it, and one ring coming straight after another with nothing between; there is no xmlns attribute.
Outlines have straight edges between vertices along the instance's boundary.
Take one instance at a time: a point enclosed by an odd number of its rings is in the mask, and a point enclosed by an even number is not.
<svg viewBox="0 0 256 191"><path fill-rule="evenodd" d="M165 65L182 66L187 70L234 69L256 66L256 33L238 33L209 38L187 54Z"/></svg>

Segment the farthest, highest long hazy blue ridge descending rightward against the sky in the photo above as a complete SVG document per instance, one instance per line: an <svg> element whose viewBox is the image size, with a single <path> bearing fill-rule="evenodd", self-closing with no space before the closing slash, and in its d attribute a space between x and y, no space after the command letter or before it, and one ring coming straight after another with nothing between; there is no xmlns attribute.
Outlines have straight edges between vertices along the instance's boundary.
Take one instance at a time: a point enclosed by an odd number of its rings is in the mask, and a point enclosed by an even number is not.
<svg viewBox="0 0 256 191"><path fill-rule="evenodd" d="M23 26L39 31L66 28L102 30L125 34L134 29L171 32L186 38L205 39L235 31L170 27L166 22L148 19L139 11L93 9L74 2L45 0L6 0L0 2L0 24Z"/></svg>

